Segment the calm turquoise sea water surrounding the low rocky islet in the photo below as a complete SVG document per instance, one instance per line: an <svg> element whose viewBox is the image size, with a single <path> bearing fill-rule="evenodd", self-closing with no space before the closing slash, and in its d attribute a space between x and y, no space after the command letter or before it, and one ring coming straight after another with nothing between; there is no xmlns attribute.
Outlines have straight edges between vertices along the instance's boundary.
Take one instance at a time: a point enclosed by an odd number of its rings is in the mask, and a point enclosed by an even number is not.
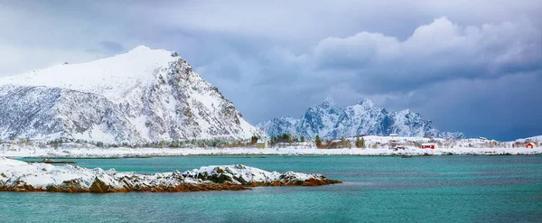
<svg viewBox="0 0 542 223"><path fill-rule="evenodd" d="M187 193L0 192L0 222L542 222L542 156L188 156L72 160L117 171L243 163L342 184Z"/></svg>

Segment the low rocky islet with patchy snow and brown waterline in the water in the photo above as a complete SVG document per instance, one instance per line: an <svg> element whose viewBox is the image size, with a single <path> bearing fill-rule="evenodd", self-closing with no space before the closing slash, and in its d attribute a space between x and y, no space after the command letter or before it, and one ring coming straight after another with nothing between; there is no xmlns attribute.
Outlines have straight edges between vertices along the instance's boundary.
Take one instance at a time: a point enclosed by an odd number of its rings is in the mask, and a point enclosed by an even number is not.
<svg viewBox="0 0 542 223"><path fill-rule="evenodd" d="M321 186L341 183L322 174L266 172L245 165L205 166L187 172L104 171L79 166L26 163L0 157L0 191L108 193L250 190L260 186Z"/></svg>

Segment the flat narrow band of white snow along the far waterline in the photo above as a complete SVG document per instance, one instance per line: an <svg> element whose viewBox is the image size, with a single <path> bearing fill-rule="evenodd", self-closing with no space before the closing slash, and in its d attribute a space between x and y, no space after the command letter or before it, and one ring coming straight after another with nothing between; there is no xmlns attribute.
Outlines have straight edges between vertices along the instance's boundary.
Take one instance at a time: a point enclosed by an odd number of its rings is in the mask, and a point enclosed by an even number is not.
<svg viewBox="0 0 542 223"><path fill-rule="evenodd" d="M452 148L405 150L378 149L317 149L304 146L285 148L39 148L34 146L10 146L0 148L0 156L25 158L128 158L183 155L539 155L536 148Z"/></svg>

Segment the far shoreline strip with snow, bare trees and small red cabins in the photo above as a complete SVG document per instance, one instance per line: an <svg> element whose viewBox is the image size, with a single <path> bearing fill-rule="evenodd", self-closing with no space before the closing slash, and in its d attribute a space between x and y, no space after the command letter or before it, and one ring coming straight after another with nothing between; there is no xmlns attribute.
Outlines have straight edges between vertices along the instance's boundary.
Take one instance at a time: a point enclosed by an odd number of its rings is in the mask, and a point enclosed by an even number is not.
<svg viewBox="0 0 542 223"><path fill-rule="evenodd" d="M3 142L0 156L33 158L130 158L184 155L526 155L542 154L542 136L499 142L483 137L443 139L359 135L324 140L282 135L244 141L193 140L152 146L76 142Z"/></svg>

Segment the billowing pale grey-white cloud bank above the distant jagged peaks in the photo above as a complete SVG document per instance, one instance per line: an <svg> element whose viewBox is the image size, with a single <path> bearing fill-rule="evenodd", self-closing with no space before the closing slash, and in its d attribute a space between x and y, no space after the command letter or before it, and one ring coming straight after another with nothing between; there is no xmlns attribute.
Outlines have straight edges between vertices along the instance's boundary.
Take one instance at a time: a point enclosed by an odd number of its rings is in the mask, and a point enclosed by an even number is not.
<svg viewBox="0 0 542 223"><path fill-rule="evenodd" d="M313 70L304 72L350 70L384 91L390 90L384 82L396 88L398 82L498 78L542 69L541 38L541 31L527 21L462 26L442 17L416 28L403 42L367 32L326 38L305 55L313 60Z"/></svg>

